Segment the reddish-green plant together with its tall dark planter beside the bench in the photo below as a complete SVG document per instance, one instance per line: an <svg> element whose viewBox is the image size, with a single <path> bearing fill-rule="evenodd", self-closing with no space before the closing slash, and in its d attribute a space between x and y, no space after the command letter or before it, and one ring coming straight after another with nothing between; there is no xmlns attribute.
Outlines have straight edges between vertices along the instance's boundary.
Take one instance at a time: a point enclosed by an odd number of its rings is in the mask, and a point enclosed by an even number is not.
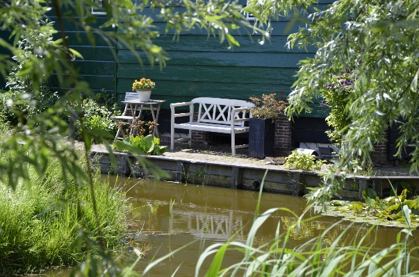
<svg viewBox="0 0 419 277"><path fill-rule="evenodd" d="M275 119L284 115L288 101L276 97L275 92L263 94L262 99L253 96L250 100L255 108L249 109L249 157L264 158L274 156Z"/></svg>

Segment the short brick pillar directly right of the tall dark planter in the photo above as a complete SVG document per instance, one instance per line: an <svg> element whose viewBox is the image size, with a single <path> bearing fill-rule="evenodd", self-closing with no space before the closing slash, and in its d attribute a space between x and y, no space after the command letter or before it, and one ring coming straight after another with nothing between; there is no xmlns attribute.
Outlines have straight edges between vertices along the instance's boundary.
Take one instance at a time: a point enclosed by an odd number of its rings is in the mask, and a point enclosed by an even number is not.
<svg viewBox="0 0 419 277"><path fill-rule="evenodd" d="M291 121L288 117L275 120L275 156L288 156L291 151Z"/></svg>

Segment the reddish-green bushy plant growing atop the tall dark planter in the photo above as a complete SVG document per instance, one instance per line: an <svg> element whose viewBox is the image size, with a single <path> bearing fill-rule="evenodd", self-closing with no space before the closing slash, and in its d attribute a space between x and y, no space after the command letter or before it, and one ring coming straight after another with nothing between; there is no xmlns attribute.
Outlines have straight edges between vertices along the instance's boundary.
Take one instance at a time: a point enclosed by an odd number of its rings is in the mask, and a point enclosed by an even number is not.
<svg viewBox="0 0 419 277"><path fill-rule="evenodd" d="M281 115L284 115L284 110L288 106L288 101L283 97L276 97L275 92L270 94L262 94L262 99L252 96L250 100L256 106L255 108L250 108L252 116L261 119L272 119L272 122L275 119L279 119Z"/></svg>

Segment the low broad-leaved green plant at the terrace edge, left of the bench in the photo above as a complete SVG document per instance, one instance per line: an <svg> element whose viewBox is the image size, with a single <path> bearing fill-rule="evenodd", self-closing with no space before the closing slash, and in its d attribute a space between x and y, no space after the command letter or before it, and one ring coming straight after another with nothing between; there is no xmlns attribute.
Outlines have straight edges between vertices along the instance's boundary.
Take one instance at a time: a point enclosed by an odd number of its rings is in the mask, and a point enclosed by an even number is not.
<svg viewBox="0 0 419 277"><path fill-rule="evenodd" d="M117 140L113 147L115 151L126 153L142 153L142 155L161 155L165 153L167 146L161 146L160 139L154 135L138 135L136 137L125 137L124 140Z"/></svg>

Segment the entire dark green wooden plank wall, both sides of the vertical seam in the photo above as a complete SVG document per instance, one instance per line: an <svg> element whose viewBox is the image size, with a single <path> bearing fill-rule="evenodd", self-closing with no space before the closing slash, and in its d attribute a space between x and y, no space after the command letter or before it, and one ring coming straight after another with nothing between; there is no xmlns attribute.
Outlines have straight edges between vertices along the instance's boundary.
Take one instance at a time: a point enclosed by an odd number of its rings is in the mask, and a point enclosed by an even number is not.
<svg viewBox="0 0 419 277"><path fill-rule="evenodd" d="M240 0L239 3L245 5L246 0ZM329 3L333 3L333 0L320 0L318 8L322 9ZM174 9L181 11L183 8ZM63 12L65 15L66 10ZM297 63L315 53L313 47L307 52L285 47L288 35L295 33L299 27L306 26L305 22L293 22L291 17L281 17L278 21L273 21L272 35L263 45L258 44L261 39L258 35L250 38L243 29L232 31L231 34L238 40L240 47L229 49L226 42L220 44L217 37L208 36L199 28L182 31L180 35L174 35L173 30L165 33L166 25L158 17L159 12L160 10L146 8L143 14L155 20L154 25L161 35L154 43L163 47L170 56L163 69L158 67L158 63L152 67L144 53L138 49L138 54L142 57L140 64L124 45L109 46L95 32L95 45L90 45L85 32L72 22L74 19L63 17L69 46L79 51L84 58L77 58L74 65L92 90L99 92L104 88L106 92L115 94L117 101L120 101L125 92L131 91L134 79L151 78L156 82L151 98L167 100L162 108L169 108L170 103L188 101L197 96L243 100L270 92L281 92L282 96L287 96L295 82ZM54 10L48 13L48 17L59 30ZM104 22L106 17L97 15L95 27ZM105 31L115 32L117 28L106 28ZM0 37L8 37L8 32L0 33ZM60 32L54 34L54 38L60 37ZM57 85L54 86L54 78L51 83L54 88L58 88ZM319 101L310 104L314 108L313 112L302 116L327 117L328 110L320 107Z"/></svg>

